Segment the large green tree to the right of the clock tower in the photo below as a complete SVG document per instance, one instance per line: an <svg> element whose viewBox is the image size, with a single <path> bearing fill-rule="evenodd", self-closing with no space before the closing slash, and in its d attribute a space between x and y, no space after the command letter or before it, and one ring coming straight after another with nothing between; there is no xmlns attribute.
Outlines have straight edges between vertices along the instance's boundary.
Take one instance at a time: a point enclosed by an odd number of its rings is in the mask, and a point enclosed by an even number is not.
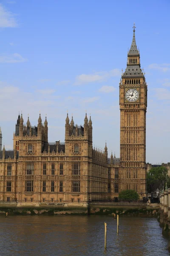
<svg viewBox="0 0 170 256"><path fill-rule="evenodd" d="M155 192L164 181L164 186L167 180L167 186L170 187L170 177L168 176L167 168L164 166L152 167L146 176L147 192Z"/></svg>

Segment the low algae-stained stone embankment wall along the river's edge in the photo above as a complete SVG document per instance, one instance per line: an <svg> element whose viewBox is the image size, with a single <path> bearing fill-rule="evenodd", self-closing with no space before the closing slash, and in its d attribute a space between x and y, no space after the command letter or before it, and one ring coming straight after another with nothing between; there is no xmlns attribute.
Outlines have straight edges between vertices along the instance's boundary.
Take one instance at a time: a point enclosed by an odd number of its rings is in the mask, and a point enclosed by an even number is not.
<svg viewBox="0 0 170 256"><path fill-rule="evenodd" d="M142 215L157 216L159 204L146 206L142 203L110 203L97 202L90 204L20 204L16 202L0 202L0 213L8 215L29 214L29 215Z"/></svg>

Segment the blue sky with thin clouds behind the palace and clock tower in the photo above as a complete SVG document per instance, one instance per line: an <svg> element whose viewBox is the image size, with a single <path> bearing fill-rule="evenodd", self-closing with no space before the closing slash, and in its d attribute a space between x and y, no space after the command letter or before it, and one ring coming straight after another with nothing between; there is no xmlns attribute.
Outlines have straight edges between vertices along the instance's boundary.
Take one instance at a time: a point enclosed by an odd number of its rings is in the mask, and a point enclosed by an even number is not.
<svg viewBox="0 0 170 256"><path fill-rule="evenodd" d="M147 162L170 162L170 1L1 0L0 125L13 145L18 112L37 125L47 114L50 142L65 118L91 113L93 144L119 157L119 81L136 23L148 85Z"/></svg>

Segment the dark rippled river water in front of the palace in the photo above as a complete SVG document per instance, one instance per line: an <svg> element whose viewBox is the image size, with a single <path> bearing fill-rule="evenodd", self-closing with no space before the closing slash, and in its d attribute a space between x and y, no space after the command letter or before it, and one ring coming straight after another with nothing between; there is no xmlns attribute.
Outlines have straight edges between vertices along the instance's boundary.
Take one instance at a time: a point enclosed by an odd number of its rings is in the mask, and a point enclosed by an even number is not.
<svg viewBox="0 0 170 256"><path fill-rule="evenodd" d="M104 250L104 222L107 250ZM156 218L0 215L0 256L167 256Z"/></svg>

